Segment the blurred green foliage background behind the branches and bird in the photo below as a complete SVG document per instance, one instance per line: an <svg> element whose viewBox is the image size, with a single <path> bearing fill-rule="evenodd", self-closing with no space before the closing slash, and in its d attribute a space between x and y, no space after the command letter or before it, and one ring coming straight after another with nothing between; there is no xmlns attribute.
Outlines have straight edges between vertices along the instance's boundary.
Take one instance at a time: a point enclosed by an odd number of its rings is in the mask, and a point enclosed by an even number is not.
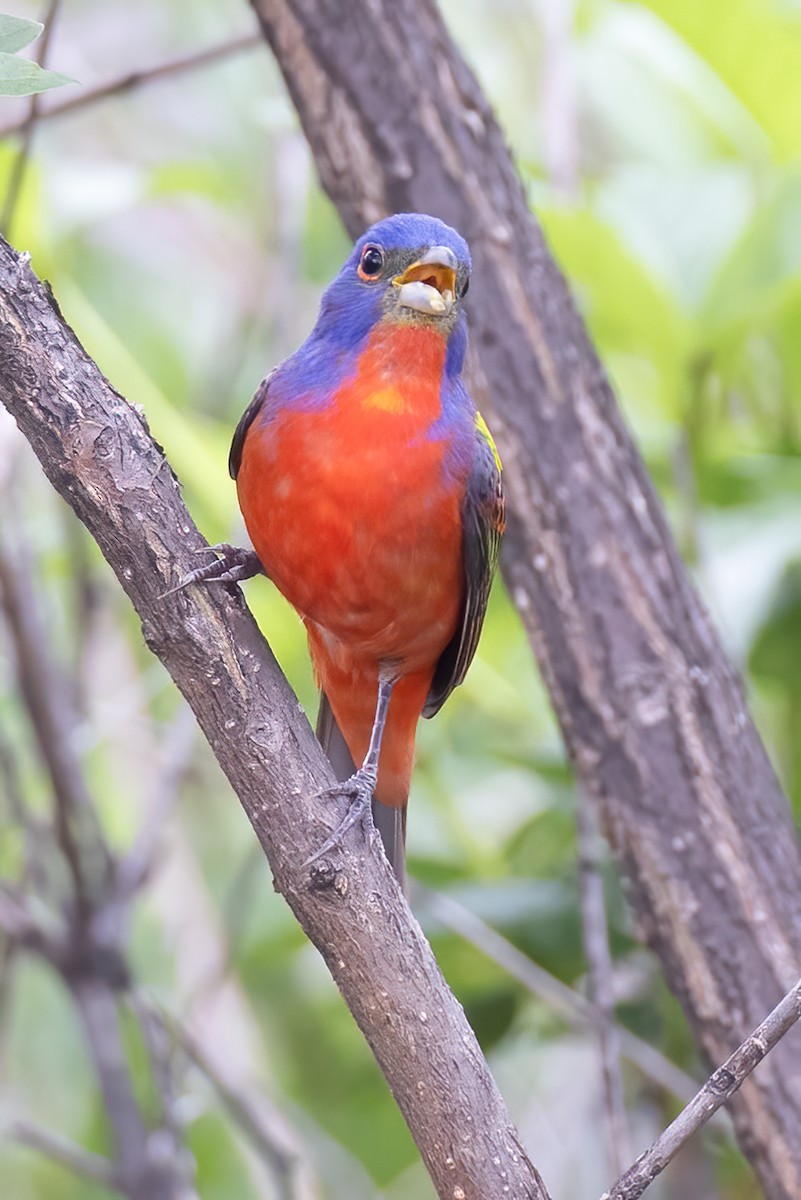
<svg viewBox="0 0 801 1200"><path fill-rule="evenodd" d="M797 812L801 6L447 0L444 11L508 133ZM94 86L251 28L246 5L71 0L54 61ZM24 112L6 102L0 119ZM14 154L13 140L0 146L0 187ZM230 432L259 379L309 329L348 245L266 49L42 121L12 233L112 383L143 407L205 535L241 539ZM474 298L480 288L476 280ZM53 653L74 679L88 781L109 840L125 847L158 786L179 700L96 548L0 422L0 469L12 460L16 527L35 556ZM312 710L297 618L264 581L247 595ZM0 728L28 803L47 812L5 643ZM500 587L465 685L423 722L418 746L412 875L580 988L572 778ZM0 869L13 878L20 839L7 811L2 820ZM247 1063L242 1086L255 1081L294 1126L326 1198L432 1195L368 1049L272 893L199 738L159 862L135 910L138 984L182 1020L212 1022L204 1028L231 1062ZM619 1016L698 1073L612 866L604 878ZM554 1195L600 1194L609 1170L589 1038L429 920L424 901L420 916ZM34 1114L108 1153L68 994L30 959L13 971L6 962L5 980L2 1115ZM209 1001L223 994L227 1015L213 1026ZM128 1049L147 1096L146 1056L135 1038ZM676 1102L630 1064L625 1084L633 1141L645 1145ZM204 1073L191 1069L181 1088L204 1200L282 1194ZM108 1194L17 1147L0 1147L0 1176L11 1200ZM742 1200L754 1189L718 1130L652 1193Z"/></svg>

